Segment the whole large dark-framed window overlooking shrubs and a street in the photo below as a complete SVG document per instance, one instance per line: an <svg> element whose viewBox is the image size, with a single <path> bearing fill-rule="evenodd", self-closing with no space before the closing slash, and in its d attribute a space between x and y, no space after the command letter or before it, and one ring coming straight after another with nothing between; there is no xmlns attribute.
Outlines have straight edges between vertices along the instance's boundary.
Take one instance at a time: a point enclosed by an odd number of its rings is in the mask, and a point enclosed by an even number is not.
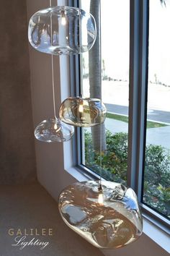
<svg viewBox="0 0 170 256"><path fill-rule="evenodd" d="M166 41L169 21L154 19L161 12L169 12L170 6L164 7L161 0L81 0L79 6L94 14L98 30L97 43L89 53L79 58L81 94L84 97L102 97L107 106L107 119L102 128L78 129L79 166L85 171L92 171L92 174L102 173L104 179L132 187L138 195L143 213L154 217L158 223L164 223L167 230L170 154L169 147L163 148L157 142L162 138L161 130L169 130L170 123L168 100L165 106L170 84L169 38ZM160 31L156 29L156 33L151 35L155 24L158 24ZM166 27L164 35L158 35L162 33L161 26ZM161 46L156 36L162 37ZM160 59L155 59L158 49L160 52L164 50L162 64ZM159 70L158 65L161 67ZM100 67L102 78L99 75ZM165 98L161 98L163 110L158 110L154 105L161 104L158 102L161 95L158 98L156 95L157 89L166 91L162 93ZM165 111L168 121L151 116L154 111ZM102 168L99 159L101 131ZM151 137L153 131L156 131L154 138ZM165 138L169 145L168 133L165 133Z"/></svg>

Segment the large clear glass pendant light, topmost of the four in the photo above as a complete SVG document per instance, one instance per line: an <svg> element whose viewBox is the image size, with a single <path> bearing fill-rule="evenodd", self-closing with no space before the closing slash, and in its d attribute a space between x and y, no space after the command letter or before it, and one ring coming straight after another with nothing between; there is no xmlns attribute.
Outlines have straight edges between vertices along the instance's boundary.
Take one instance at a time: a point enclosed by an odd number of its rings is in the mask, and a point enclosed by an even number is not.
<svg viewBox="0 0 170 256"><path fill-rule="evenodd" d="M29 22L30 44L46 54L84 53L94 45L96 35L94 17L75 7L42 9Z"/></svg>

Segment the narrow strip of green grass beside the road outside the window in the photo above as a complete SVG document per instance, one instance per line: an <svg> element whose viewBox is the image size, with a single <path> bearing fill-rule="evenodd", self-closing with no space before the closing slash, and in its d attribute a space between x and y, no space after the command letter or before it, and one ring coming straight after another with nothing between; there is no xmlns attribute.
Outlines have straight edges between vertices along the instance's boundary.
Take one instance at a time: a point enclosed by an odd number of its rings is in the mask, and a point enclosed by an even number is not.
<svg viewBox="0 0 170 256"><path fill-rule="evenodd" d="M121 116L117 114L107 113L107 118L115 119L119 121L125 121L125 123L128 123L128 116ZM155 121L147 121L147 128L157 128L157 127L166 127L166 126L167 126L166 124L156 123Z"/></svg>

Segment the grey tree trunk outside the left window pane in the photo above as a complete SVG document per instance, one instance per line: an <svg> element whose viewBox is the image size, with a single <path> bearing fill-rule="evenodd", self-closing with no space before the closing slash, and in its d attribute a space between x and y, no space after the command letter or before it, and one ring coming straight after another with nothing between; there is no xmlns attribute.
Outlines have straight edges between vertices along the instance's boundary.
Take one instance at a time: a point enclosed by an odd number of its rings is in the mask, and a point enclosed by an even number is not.
<svg viewBox="0 0 170 256"><path fill-rule="evenodd" d="M90 13L97 22L97 40L89 51L89 83L90 98L102 98L102 63L101 63L101 35L100 35L100 0L91 0ZM100 150L100 141L102 141L102 150L106 150L106 135L104 124L91 127L94 150ZM102 136L100 140L100 136Z"/></svg>

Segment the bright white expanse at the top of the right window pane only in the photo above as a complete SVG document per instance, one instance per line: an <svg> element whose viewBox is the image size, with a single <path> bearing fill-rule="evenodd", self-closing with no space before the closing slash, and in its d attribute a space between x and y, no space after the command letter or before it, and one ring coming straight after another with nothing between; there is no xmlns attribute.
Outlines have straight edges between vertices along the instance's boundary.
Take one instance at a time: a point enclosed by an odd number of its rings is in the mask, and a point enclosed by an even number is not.
<svg viewBox="0 0 170 256"><path fill-rule="evenodd" d="M149 78L170 85L170 1L150 0Z"/></svg>

